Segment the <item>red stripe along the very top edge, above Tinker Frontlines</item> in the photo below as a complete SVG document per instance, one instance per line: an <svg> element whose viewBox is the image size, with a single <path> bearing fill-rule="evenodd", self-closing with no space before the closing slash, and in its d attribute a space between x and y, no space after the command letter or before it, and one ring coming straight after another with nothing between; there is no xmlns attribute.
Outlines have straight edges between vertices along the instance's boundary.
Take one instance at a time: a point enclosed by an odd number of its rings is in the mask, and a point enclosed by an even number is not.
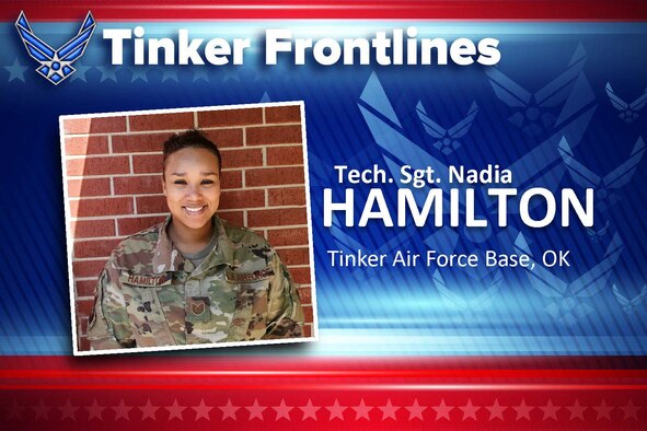
<svg viewBox="0 0 647 431"><path fill-rule="evenodd" d="M97 21L180 20L475 20L475 21L645 21L643 0L261 0L210 4L206 1L23 1L0 3L0 20L24 10L30 21L79 20L91 10Z"/></svg>

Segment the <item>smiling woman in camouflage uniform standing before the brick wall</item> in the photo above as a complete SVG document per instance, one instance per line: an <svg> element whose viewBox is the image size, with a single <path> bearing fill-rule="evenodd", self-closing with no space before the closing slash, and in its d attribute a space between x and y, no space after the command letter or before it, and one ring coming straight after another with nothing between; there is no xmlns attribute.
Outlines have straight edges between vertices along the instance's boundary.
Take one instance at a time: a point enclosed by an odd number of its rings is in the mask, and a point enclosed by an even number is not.
<svg viewBox="0 0 647 431"><path fill-rule="evenodd" d="M161 168L170 215L113 251L96 286L91 349L301 337L303 311L277 252L216 215L217 145L196 129L172 136Z"/></svg>

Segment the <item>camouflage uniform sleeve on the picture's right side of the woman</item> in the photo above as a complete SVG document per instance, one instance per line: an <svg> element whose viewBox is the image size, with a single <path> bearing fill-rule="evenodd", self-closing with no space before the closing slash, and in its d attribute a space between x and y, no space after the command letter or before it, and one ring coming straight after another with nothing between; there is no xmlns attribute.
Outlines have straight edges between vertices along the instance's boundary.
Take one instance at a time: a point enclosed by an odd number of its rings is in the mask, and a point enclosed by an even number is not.
<svg viewBox="0 0 647 431"><path fill-rule="evenodd" d="M267 299L267 330L263 339L300 338L304 318L297 284L276 252L271 267L274 276Z"/></svg>

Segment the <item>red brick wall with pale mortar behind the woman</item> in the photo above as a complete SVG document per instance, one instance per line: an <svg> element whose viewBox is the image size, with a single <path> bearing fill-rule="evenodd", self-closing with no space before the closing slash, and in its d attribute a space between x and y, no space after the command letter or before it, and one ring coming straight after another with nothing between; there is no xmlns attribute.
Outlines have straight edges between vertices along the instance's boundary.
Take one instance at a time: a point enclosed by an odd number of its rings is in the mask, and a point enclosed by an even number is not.
<svg viewBox="0 0 647 431"><path fill-rule="evenodd" d="M200 128L222 154L219 215L253 229L278 251L297 283L312 335L310 254L300 105L114 117L61 123L79 348L96 278L122 238L167 214L162 142Z"/></svg>

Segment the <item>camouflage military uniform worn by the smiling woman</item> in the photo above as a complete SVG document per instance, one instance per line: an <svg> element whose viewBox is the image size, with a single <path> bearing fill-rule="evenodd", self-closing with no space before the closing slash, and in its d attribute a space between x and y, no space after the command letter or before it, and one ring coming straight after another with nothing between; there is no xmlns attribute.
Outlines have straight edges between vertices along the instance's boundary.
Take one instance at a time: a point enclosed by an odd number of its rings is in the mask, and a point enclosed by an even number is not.
<svg viewBox="0 0 647 431"><path fill-rule="evenodd" d="M296 286L267 241L213 218L217 246L196 268L171 218L124 240L96 287L93 350L301 337Z"/></svg>

